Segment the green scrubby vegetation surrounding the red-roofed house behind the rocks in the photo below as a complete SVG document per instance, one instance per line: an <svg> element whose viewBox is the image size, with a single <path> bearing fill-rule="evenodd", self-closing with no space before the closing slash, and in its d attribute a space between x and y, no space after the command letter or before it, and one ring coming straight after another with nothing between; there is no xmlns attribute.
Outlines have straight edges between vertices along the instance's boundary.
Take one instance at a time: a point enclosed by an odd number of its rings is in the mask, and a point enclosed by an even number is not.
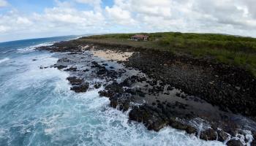
<svg viewBox="0 0 256 146"><path fill-rule="evenodd" d="M165 32L146 34L149 36L147 42L136 42L129 40L132 35L134 34L105 34L83 37L80 40L167 50L171 53L189 54L197 58L211 57L221 63L241 66L256 77L255 38L224 34Z"/></svg>

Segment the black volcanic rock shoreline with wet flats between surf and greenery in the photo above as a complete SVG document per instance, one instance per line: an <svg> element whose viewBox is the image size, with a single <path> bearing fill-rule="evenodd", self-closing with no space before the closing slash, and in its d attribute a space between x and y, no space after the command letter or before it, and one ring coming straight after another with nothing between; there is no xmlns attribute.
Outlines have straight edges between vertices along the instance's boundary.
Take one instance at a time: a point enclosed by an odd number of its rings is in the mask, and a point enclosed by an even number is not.
<svg viewBox="0 0 256 146"><path fill-rule="evenodd" d="M39 50L64 53L53 67L70 73L67 80L72 91L102 88L99 95L108 97L111 107L129 110L129 119L149 130L171 126L204 140L256 145L256 81L244 69L187 55L79 39ZM99 61L92 53L99 50L127 59ZM105 82L88 82L89 78Z"/></svg>

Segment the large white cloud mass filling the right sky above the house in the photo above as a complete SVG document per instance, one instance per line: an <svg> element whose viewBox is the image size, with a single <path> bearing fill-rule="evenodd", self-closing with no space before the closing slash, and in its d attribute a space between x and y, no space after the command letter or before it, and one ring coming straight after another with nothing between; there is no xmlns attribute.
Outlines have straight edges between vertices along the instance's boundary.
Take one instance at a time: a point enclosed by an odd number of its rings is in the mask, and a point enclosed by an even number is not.
<svg viewBox="0 0 256 146"><path fill-rule="evenodd" d="M129 23L129 27L134 28L140 24L141 31L193 31L255 37L256 31L249 31L256 28L255 7L254 0L115 0L113 6L105 10L114 23Z"/></svg>

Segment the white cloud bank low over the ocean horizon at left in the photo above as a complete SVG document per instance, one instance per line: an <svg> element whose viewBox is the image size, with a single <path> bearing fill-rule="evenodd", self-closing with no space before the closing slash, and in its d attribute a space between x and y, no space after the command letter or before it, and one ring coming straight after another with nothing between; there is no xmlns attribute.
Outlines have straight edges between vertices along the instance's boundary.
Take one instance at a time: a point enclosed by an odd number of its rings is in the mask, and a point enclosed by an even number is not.
<svg viewBox="0 0 256 146"><path fill-rule="evenodd" d="M0 42L24 34L28 37L48 37L99 33L105 26L105 17L101 12L78 10L67 2L56 1L56 4L56 7L31 15L15 9L0 14Z"/></svg>

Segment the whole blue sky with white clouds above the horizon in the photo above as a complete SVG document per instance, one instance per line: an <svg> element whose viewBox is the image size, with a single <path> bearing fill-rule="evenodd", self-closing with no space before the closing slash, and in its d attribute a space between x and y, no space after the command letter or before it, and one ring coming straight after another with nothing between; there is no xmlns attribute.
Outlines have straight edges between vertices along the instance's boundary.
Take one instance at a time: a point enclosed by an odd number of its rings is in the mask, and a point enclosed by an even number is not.
<svg viewBox="0 0 256 146"><path fill-rule="evenodd" d="M0 42L179 31L256 37L255 0L0 0Z"/></svg>

